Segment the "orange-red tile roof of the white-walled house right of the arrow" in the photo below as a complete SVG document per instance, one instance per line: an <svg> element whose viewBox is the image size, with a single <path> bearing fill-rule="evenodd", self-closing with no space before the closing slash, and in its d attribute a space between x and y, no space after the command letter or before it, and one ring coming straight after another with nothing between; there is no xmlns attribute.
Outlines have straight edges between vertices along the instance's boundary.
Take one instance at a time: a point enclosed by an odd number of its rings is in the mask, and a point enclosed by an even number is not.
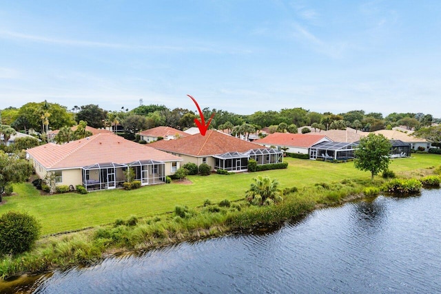
<svg viewBox="0 0 441 294"><path fill-rule="evenodd" d="M307 134L290 134L290 133L274 133L269 134L265 138L254 140L258 144L271 144L286 147L305 147L309 148L318 143L325 135L307 135Z"/></svg>

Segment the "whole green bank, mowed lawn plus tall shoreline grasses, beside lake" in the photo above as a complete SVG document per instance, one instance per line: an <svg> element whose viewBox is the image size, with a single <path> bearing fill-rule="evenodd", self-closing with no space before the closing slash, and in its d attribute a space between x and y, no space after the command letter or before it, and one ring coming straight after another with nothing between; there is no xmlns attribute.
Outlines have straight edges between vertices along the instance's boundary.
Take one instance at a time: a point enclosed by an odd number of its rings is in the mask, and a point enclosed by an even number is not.
<svg viewBox="0 0 441 294"><path fill-rule="evenodd" d="M366 187L379 187L384 182L379 177L371 182L370 175L354 169L352 162L333 164L294 158L287 158L287 162L288 169L258 173L277 178L282 189L298 188L273 207L253 207L243 200L256 173L194 176L190 177L191 185L101 191L85 196L41 196L28 184L17 185L18 195L6 198L0 213L10 209L28 211L39 218L46 235L93 229L42 238L32 252L4 258L0 276L90 264L120 251L142 251L263 224L278 225L301 218L318 205L345 202L347 196L361 197ZM441 156L416 154L414 158L393 160L391 169L399 176L424 176L440 165ZM180 207L178 213L174 212L176 205Z"/></svg>

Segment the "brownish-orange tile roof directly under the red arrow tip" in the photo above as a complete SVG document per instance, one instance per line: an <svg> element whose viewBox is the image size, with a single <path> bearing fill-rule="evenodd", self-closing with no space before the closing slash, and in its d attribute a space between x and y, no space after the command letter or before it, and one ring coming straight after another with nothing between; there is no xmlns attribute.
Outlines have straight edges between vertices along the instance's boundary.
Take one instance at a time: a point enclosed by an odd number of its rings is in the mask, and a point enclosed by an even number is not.
<svg viewBox="0 0 441 294"><path fill-rule="evenodd" d="M212 156L232 151L246 152L250 149L265 148L211 129L207 131L205 136L195 134L178 140L159 140L150 143L149 146L164 151L190 156Z"/></svg>

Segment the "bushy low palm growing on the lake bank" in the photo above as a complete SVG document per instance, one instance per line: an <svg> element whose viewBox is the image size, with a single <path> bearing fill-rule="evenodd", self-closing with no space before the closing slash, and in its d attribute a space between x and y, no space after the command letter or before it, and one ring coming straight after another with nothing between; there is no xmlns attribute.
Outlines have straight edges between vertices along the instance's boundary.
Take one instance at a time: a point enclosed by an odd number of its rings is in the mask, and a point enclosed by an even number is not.
<svg viewBox="0 0 441 294"><path fill-rule="evenodd" d="M253 178L249 190L245 192L247 200L254 205L271 205L283 200L278 189L278 180L271 180L268 176Z"/></svg>

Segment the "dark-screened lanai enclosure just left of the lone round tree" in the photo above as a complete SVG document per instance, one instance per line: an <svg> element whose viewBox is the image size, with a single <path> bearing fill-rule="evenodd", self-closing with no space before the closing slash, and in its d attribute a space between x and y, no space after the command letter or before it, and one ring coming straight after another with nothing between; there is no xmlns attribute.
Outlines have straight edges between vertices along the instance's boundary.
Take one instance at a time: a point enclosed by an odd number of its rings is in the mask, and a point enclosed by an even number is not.
<svg viewBox="0 0 441 294"><path fill-rule="evenodd" d="M353 158L358 144L345 142L322 142L309 149L309 159L347 160Z"/></svg>

